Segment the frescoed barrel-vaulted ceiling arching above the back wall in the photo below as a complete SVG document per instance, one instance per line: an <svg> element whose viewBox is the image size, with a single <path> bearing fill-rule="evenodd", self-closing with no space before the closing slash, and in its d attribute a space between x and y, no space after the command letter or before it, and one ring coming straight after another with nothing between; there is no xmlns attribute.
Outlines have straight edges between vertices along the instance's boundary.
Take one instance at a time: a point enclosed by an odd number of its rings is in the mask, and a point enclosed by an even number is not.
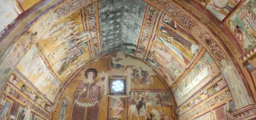
<svg viewBox="0 0 256 120"><path fill-rule="evenodd" d="M1 82L15 70L57 90L89 62L121 51L179 85L202 56L217 74L222 60L255 44L241 47L232 33L243 0L16 1L0 3Z"/></svg>

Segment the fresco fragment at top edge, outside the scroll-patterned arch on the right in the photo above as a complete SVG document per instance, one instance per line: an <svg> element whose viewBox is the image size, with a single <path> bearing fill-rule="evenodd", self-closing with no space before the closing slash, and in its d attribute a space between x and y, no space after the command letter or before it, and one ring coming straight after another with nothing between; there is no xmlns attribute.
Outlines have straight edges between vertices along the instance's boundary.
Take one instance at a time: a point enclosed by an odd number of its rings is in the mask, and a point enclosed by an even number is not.
<svg viewBox="0 0 256 120"><path fill-rule="evenodd" d="M200 0L201 5L208 9L217 19L222 21L240 0Z"/></svg>

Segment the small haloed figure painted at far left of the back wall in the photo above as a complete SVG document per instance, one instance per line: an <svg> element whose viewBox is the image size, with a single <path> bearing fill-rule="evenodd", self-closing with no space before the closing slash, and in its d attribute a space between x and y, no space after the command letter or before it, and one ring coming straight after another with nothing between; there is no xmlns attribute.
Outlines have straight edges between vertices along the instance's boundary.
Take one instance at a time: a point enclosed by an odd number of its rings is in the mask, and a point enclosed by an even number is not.
<svg viewBox="0 0 256 120"><path fill-rule="evenodd" d="M69 105L69 101L70 98L68 96L64 96L58 120L66 120L66 107Z"/></svg>

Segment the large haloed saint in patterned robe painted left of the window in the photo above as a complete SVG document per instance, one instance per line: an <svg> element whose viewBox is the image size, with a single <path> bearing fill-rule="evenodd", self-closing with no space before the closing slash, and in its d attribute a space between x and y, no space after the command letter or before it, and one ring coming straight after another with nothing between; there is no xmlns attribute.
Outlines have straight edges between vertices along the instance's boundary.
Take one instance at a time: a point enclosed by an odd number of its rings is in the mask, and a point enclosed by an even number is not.
<svg viewBox="0 0 256 120"><path fill-rule="evenodd" d="M98 120L100 100L102 98L102 81L96 82L97 71L88 69L74 92L71 120Z"/></svg>

